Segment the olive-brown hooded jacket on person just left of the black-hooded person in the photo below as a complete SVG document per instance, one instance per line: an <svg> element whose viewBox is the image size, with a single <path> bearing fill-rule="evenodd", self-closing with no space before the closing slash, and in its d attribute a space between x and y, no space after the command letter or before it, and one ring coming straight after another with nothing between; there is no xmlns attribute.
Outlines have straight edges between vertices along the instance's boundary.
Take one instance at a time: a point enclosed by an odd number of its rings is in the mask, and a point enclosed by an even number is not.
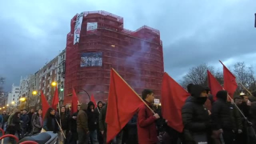
<svg viewBox="0 0 256 144"><path fill-rule="evenodd" d="M84 130L85 133L87 133L89 131L88 128L88 117L86 114L87 111L87 104L86 103L82 103L81 104L81 109L78 111L77 114L77 120L76 120L76 124L77 124L77 129L79 130Z"/></svg>

